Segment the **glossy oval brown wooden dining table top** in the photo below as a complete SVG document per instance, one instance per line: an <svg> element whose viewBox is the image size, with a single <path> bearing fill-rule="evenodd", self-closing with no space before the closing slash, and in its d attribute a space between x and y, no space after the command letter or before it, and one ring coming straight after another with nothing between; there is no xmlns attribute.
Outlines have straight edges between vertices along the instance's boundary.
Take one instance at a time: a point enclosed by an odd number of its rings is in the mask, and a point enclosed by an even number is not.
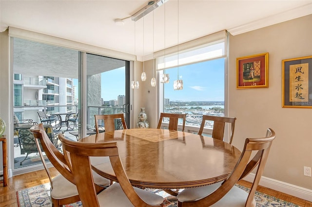
<svg viewBox="0 0 312 207"><path fill-rule="evenodd" d="M207 136L162 129L128 129L87 136L80 142L117 142L119 156L133 186L190 188L224 180L241 152ZM91 158L94 169L117 181L106 157Z"/></svg>

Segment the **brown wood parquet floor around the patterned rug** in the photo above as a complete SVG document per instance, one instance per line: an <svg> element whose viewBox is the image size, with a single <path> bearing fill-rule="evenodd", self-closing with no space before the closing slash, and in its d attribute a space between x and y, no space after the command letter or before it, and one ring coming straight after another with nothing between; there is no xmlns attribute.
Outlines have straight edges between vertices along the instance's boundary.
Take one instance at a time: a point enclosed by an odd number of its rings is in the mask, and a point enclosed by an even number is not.
<svg viewBox="0 0 312 207"><path fill-rule="evenodd" d="M59 172L51 168L52 176L56 176ZM0 206L1 207L18 207L16 191L29 188L33 186L37 186L40 184L48 183L49 179L46 175L46 172L42 170L25 173L22 175L16 175L12 178L9 178L9 185L7 187L3 187L3 184L0 184ZM240 185L250 188L251 183L247 181L239 182ZM293 197L291 195L259 186L257 188L258 191L266 193L271 196L275 196L279 199L283 199L288 202L292 202L301 207L312 207L312 202L299 199L297 197Z"/></svg>

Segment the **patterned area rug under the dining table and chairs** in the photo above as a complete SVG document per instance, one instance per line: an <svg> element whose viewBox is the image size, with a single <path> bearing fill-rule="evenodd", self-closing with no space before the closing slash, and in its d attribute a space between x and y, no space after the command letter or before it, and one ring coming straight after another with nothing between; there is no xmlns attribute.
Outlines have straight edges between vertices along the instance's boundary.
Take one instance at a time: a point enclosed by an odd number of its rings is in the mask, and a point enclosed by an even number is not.
<svg viewBox="0 0 312 207"><path fill-rule="evenodd" d="M236 185L243 190L249 192L249 188ZM164 207L177 207L175 196L160 189L147 189L164 197ZM31 188L25 188L17 191L18 207L52 207L50 199L50 184L43 184ZM290 202L269 196L267 194L256 191L255 193L256 207L300 207ZM64 207L82 207L81 202L65 205Z"/></svg>

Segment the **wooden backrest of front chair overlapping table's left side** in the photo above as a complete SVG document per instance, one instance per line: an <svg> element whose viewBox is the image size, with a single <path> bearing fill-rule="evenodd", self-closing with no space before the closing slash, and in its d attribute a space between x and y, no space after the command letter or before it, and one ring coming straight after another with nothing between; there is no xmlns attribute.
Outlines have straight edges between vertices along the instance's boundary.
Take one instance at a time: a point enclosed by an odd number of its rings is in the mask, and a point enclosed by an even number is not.
<svg viewBox="0 0 312 207"><path fill-rule="evenodd" d="M64 154L69 155L68 165L73 169L76 186L83 207L99 207L98 197L93 183L92 169L89 157L109 156L113 170L122 190L135 207L151 207L145 203L132 187L119 158L117 142L109 143L83 143L64 138L62 141ZM103 204L105 206L105 204Z"/></svg>

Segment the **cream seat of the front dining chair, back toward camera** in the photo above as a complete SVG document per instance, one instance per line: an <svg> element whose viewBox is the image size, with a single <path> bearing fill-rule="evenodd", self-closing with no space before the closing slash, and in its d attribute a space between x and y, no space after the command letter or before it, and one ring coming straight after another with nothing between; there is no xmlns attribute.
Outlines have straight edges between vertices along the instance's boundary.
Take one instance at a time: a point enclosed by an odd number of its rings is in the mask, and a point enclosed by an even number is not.
<svg viewBox="0 0 312 207"><path fill-rule="evenodd" d="M134 187L134 189L138 196L149 205L160 205L164 201L163 197L160 195L140 188ZM100 192L98 194L98 203L100 207L133 207L118 183L114 183L112 186Z"/></svg>

